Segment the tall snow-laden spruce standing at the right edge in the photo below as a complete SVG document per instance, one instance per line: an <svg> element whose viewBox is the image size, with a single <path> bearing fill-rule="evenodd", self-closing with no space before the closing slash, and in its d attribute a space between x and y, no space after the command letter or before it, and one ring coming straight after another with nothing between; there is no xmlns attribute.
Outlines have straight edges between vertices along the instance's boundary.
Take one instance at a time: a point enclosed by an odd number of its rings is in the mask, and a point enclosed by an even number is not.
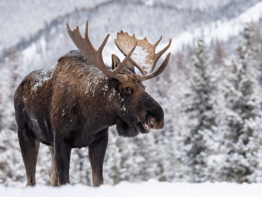
<svg viewBox="0 0 262 197"><path fill-rule="evenodd" d="M257 70L252 63L250 31L244 30L231 72L223 81L225 96L224 143L227 155L222 173L227 181L252 182L261 157L261 95Z"/></svg>

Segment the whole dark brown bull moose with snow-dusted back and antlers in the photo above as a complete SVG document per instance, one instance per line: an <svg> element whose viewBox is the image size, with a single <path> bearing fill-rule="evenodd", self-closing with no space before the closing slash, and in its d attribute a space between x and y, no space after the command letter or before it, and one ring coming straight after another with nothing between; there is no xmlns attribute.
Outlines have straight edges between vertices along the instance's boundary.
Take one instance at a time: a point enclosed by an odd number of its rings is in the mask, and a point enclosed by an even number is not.
<svg viewBox="0 0 262 197"><path fill-rule="evenodd" d="M29 73L14 93L18 139L25 165L26 186L36 184L35 171L39 144L49 146L52 155L49 173L52 186L70 183L69 163L72 148L89 147L94 186L103 184L103 163L108 144L108 127L116 125L120 136L133 137L162 129L164 113L145 91L142 81L166 68L170 53L157 70L160 52L147 38L117 33L115 44L125 55L121 62L112 54L112 66L104 64L102 50L109 34L96 50L76 29L67 31L79 50L71 50L54 67ZM136 49L136 50L135 50ZM142 75L135 73L136 66Z"/></svg>

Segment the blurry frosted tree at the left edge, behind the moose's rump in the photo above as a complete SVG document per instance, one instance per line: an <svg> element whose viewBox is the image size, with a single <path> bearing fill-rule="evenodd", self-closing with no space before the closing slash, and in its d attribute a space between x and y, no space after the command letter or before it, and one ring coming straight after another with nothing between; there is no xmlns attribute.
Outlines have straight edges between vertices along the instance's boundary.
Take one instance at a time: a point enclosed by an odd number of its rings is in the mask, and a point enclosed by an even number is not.
<svg viewBox="0 0 262 197"><path fill-rule="evenodd" d="M19 54L13 50L6 67L1 69L2 94L2 130L0 131L0 183L10 184L13 181L25 181L25 170L17 137L17 126L14 117L13 95L19 80ZM19 183L18 183L19 184Z"/></svg>

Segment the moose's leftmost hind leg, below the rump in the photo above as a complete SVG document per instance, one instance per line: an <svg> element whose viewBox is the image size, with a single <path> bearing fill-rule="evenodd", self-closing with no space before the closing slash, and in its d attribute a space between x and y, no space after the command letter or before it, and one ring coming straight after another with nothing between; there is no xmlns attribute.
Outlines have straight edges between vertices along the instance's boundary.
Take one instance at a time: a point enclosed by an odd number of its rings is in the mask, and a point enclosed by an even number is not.
<svg viewBox="0 0 262 197"><path fill-rule="evenodd" d="M20 129L18 129L18 139L25 164L26 186L34 186L36 184L35 173L40 142L29 137L26 131L23 132Z"/></svg>

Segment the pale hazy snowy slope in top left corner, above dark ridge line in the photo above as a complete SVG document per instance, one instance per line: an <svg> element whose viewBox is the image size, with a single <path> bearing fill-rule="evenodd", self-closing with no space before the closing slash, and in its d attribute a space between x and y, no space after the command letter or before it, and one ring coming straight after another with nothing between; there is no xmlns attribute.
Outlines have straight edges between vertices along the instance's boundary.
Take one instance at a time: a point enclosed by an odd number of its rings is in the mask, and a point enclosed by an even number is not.
<svg viewBox="0 0 262 197"><path fill-rule="evenodd" d="M0 51L3 47L8 48L17 44L21 38L27 38L29 35L36 34L38 30L44 29L45 25L50 23L54 18L72 13L82 7L93 7L97 4L106 2L106 0L63 1L47 0L45 6L41 1L19 1L19 0L2 0L1 8L1 38ZM5 32L5 33L4 33Z"/></svg>

